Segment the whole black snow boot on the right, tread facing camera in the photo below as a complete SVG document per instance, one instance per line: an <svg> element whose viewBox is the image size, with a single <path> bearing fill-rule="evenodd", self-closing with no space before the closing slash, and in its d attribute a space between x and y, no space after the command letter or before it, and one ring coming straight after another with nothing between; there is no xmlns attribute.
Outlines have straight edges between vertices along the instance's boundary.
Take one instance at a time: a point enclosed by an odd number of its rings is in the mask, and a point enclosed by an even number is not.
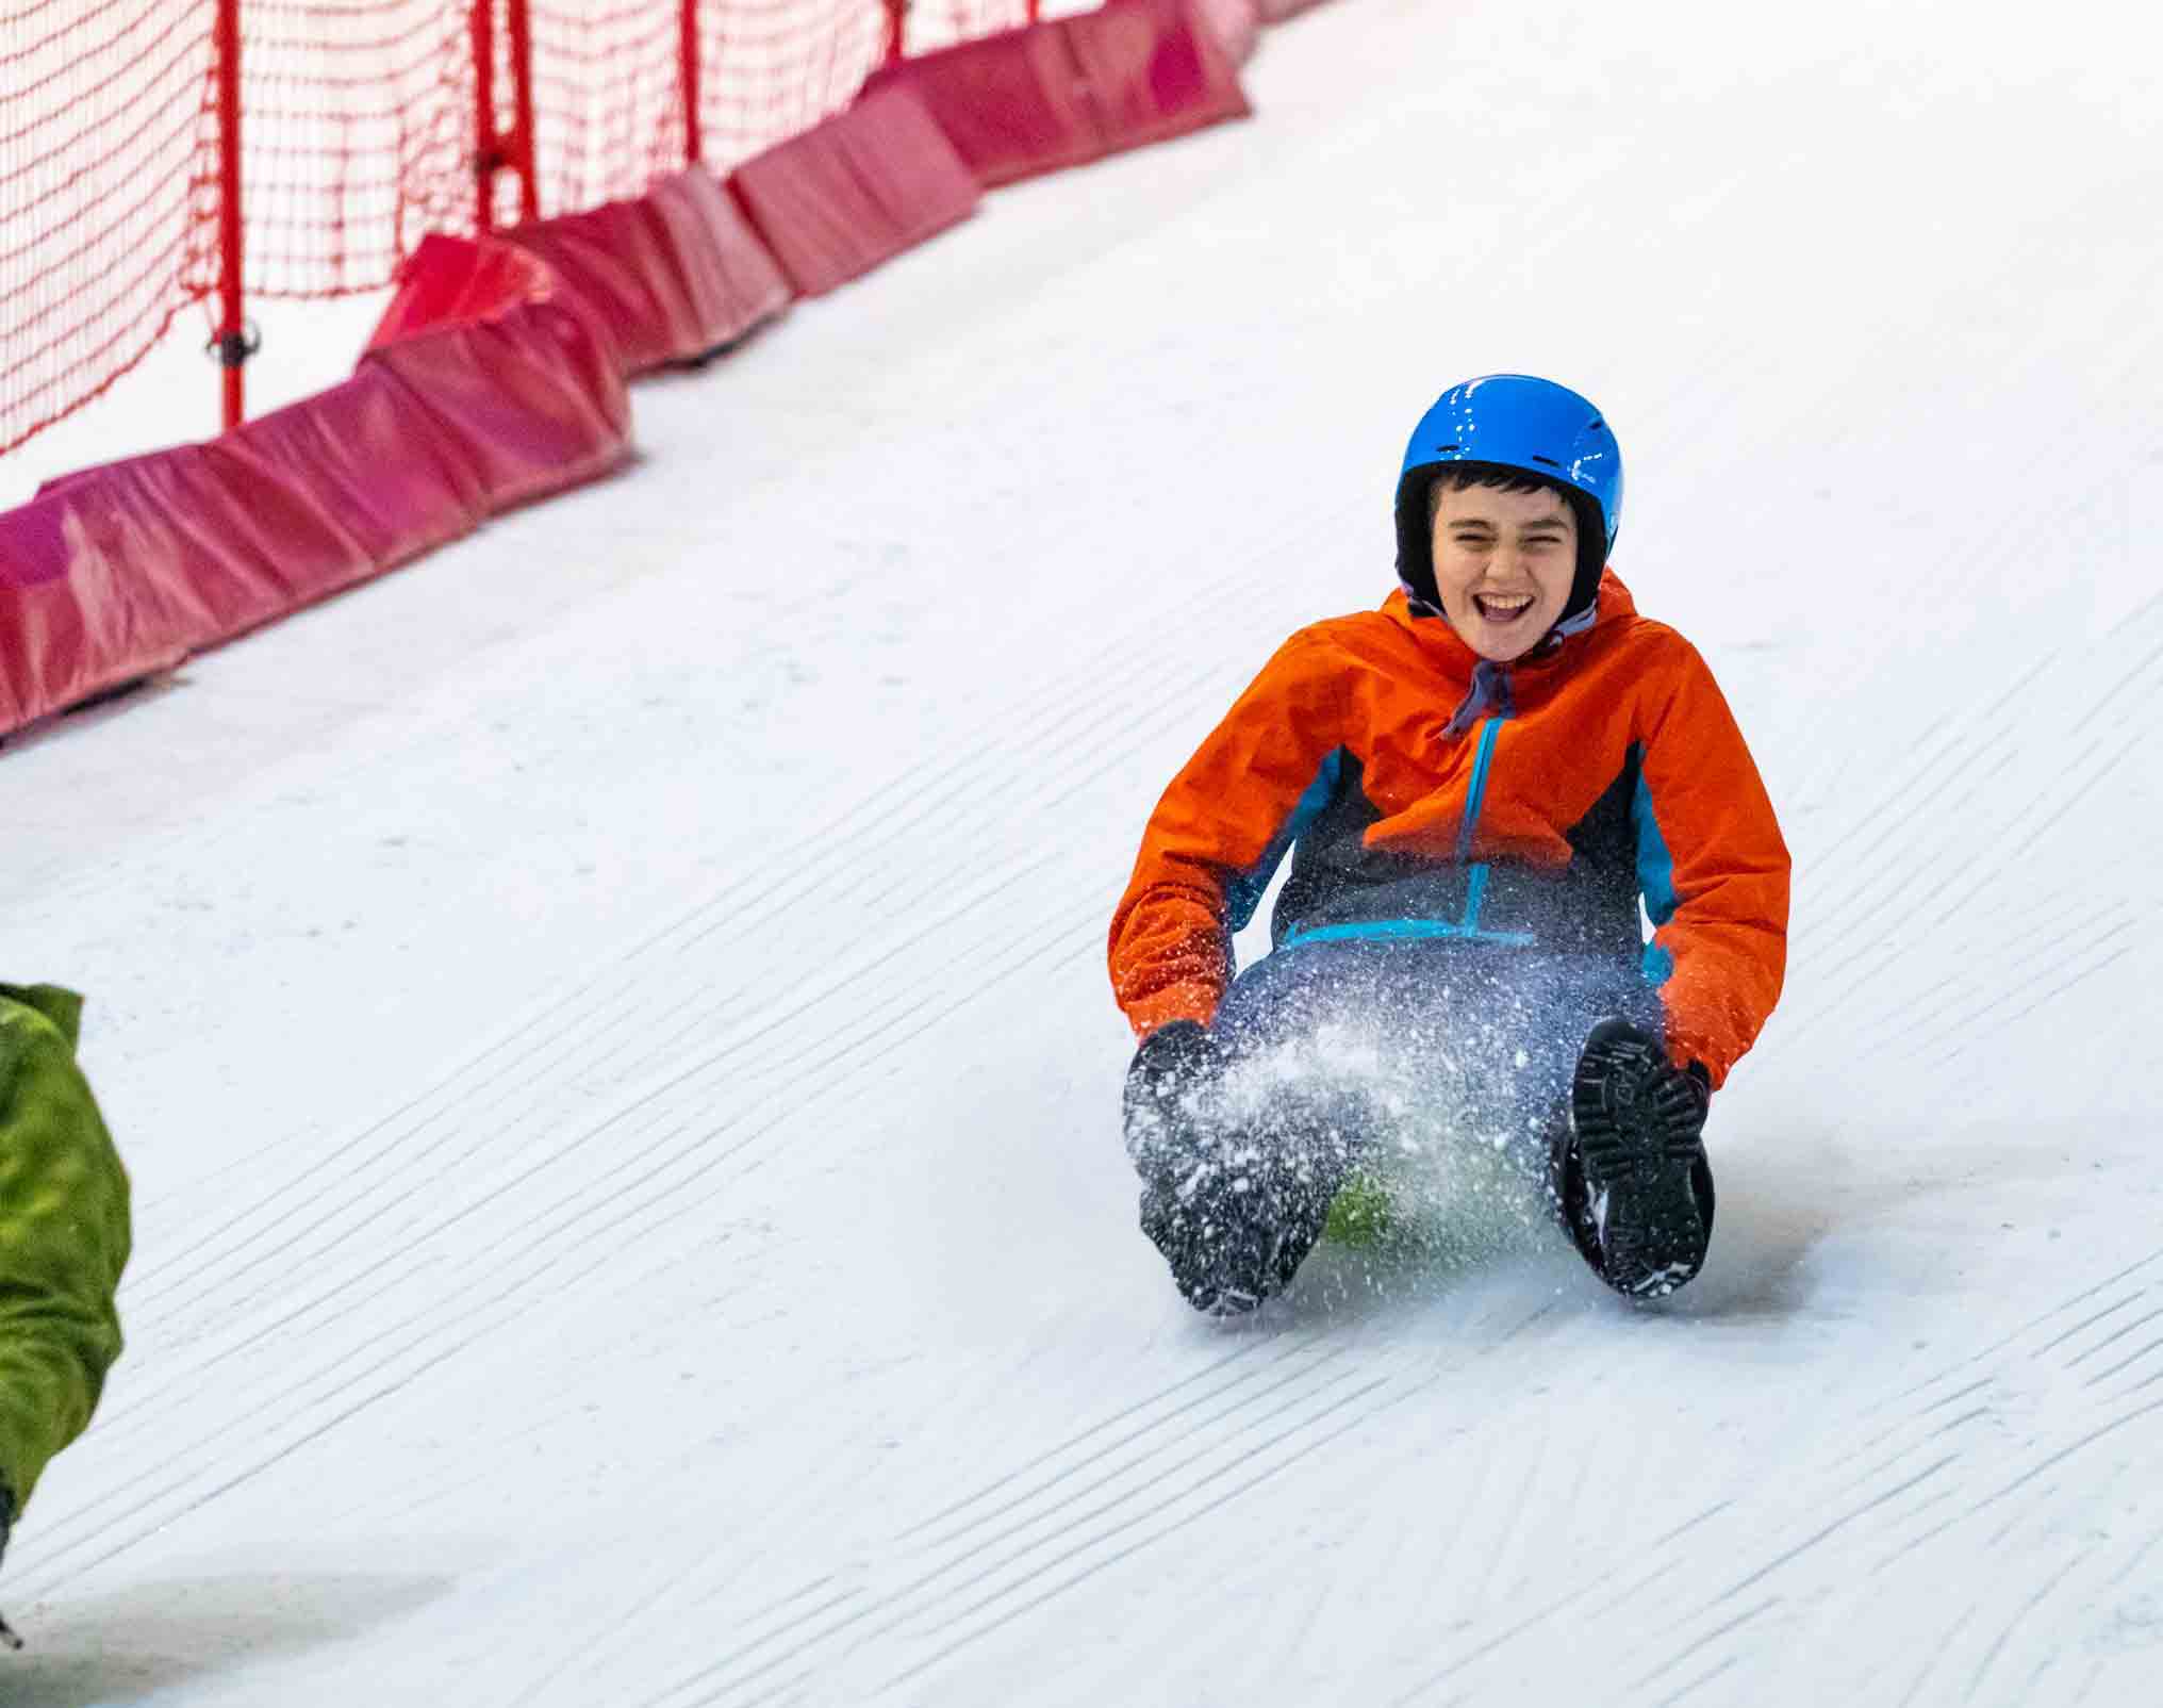
<svg viewBox="0 0 2163 1708"><path fill-rule="evenodd" d="M1585 1262L1631 1299L1674 1292L1704 1266L1713 1173L1702 1074L1670 1063L1659 1039L1627 1020L1594 1026L1577 1059L1557 1208Z"/></svg>

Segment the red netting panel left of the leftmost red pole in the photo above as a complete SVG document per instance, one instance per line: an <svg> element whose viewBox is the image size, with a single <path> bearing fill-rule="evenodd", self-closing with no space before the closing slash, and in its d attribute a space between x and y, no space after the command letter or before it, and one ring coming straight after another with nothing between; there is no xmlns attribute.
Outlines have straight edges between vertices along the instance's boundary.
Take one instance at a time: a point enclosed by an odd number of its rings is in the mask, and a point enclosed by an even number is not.
<svg viewBox="0 0 2163 1708"><path fill-rule="evenodd" d="M210 11L0 0L0 450L158 342L214 238Z"/></svg>

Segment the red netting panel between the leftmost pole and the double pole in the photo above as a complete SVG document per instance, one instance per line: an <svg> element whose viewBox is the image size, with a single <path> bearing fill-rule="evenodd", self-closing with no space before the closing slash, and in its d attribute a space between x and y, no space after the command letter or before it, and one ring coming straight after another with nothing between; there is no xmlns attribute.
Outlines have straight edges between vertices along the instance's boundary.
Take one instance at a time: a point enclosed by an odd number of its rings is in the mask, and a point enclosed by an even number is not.
<svg viewBox="0 0 2163 1708"><path fill-rule="evenodd" d="M251 297L376 290L428 232L474 229L469 17L467 0L240 0Z"/></svg>

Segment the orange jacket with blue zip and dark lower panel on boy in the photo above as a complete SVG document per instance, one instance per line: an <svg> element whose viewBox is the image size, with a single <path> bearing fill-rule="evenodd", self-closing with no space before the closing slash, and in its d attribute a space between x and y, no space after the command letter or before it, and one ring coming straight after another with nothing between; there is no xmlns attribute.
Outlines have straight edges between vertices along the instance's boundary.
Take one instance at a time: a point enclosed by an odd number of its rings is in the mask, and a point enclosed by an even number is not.
<svg viewBox="0 0 2163 1708"><path fill-rule="evenodd" d="M1293 634L1151 814L1112 916L1136 1033L1209 1022L1287 849L1280 950L1627 957L1659 985L1670 1054L1715 1085L1780 998L1789 857L1765 784L1704 660L1611 571L1588 628L1512 665L1402 591Z"/></svg>

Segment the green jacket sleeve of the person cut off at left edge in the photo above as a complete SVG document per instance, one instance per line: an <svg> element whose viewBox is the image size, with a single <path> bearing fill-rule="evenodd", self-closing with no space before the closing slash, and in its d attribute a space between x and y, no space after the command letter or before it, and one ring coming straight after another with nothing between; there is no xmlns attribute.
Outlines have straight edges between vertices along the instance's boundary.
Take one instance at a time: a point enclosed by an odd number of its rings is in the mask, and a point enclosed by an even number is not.
<svg viewBox="0 0 2163 1708"><path fill-rule="evenodd" d="M17 1511L121 1351L128 1175L76 1067L80 1009L0 985L0 1481Z"/></svg>

